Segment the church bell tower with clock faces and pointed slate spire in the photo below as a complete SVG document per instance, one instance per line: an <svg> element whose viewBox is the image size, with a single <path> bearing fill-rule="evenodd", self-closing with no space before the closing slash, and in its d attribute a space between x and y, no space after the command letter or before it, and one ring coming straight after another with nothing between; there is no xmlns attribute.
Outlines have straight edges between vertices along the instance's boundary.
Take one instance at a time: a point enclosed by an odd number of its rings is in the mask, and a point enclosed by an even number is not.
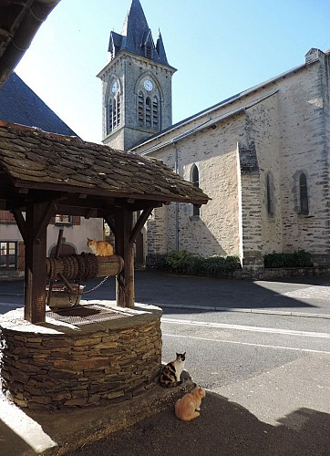
<svg viewBox="0 0 330 456"><path fill-rule="evenodd" d="M170 67L162 37L156 46L139 0L132 0L121 33L110 33L102 80L103 143L129 150L172 123Z"/></svg>

